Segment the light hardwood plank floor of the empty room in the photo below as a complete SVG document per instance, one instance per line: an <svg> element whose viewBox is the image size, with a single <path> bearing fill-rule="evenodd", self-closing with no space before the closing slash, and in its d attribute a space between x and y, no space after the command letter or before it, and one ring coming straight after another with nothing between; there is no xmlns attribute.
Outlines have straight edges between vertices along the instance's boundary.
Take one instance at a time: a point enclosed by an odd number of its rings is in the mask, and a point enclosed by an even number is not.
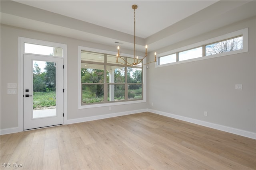
<svg viewBox="0 0 256 170"><path fill-rule="evenodd" d="M1 169L256 169L256 141L145 112L1 135Z"/></svg>

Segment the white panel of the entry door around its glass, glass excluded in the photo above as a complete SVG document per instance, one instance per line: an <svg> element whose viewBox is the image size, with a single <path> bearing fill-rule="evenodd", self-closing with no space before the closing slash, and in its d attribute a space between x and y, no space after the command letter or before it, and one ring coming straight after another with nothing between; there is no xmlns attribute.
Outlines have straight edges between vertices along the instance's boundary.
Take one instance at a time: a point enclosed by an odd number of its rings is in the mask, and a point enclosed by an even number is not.
<svg viewBox="0 0 256 170"><path fill-rule="evenodd" d="M34 62L52 62L56 63L55 65L55 82L56 82L56 107L55 107L55 115L46 116L46 117L36 117L34 118L34 109L33 109L33 101L34 101ZM25 89L28 92L25 92ZM53 126L53 125L62 125L63 124L63 58L55 57L55 56L44 56L44 55L36 55L36 54L24 54L24 95L28 95L28 97L23 97L23 117L24 130L36 129L41 127ZM31 97L29 97L31 95ZM44 109L42 109L44 110ZM44 110L45 111L45 110Z"/></svg>

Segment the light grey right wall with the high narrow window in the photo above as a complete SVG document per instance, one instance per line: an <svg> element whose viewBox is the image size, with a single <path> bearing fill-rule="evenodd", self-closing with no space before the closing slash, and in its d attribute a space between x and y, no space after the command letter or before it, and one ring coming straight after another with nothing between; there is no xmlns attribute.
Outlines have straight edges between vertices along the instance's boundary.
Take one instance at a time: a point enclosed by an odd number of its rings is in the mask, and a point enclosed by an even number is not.
<svg viewBox="0 0 256 170"><path fill-rule="evenodd" d="M158 53L246 27L249 34L247 53L157 68L150 65L148 108L255 133L255 18L164 47ZM235 84L242 84L243 90L235 90ZM208 116L204 116L204 111L208 111Z"/></svg>

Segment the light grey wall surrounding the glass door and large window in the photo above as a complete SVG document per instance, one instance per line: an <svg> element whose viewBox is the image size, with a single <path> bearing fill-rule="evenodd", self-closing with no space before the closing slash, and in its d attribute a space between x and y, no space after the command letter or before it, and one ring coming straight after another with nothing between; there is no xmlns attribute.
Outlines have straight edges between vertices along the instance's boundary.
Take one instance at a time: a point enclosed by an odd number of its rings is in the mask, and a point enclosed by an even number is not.
<svg viewBox="0 0 256 170"><path fill-rule="evenodd" d="M78 46L116 51L116 47L1 25L1 130L18 127L18 91L7 94L7 84L18 84L18 37L67 44L67 119L80 119L146 109L146 103L78 109ZM133 51L131 51L132 54ZM18 89L18 88L17 88ZM84 120L84 119L82 119ZM77 121L77 120L76 120Z"/></svg>

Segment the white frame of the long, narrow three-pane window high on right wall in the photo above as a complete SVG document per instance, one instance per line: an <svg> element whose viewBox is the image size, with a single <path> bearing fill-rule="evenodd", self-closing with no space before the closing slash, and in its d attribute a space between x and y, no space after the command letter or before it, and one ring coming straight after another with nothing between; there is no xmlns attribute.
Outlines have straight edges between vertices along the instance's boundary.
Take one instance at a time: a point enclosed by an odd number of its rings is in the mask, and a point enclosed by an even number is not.
<svg viewBox="0 0 256 170"><path fill-rule="evenodd" d="M228 40L228 39L233 39L233 38L239 37L241 35L243 37L243 49L235 50L235 51L228 51L228 52L225 52L225 53L219 53L219 54L206 56L206 45L213 44L213 43L216 43L216 42L225 41L225 40ZM202 57L198 57L198 58L194 58L194 59L188 59L188 60L184 60L184 61L178 61L178 57L179 57L180 52L188 51L190 49L196 49L198 47L202 47L202 55L203 55ZM175 65L175 64L189 63L189 62L193 62L193 61L200 61L200 60L204 60L204 59L212 59L212 58L216 58L216 57L224 57L224 56L227 56L227 55L234 55L234 54L245 53L245 52L248 52L248 27L244 28L244 29L240 29L238 31L227 33L225 35L214 37L214 38L211 38L211 39L208 39L208 40L205 40L205 41L201 41L201 42L198 42L198 43L194 43L194 44L191 44L191 45L180 47L178 49L174 49L174 50L171 50L171 51L166 51L164 53L160 53L160 54L158 54L157 64L156 64L155 67L162 67L162 66L170 66L170 65ZM176 56L177 56L176 62L161 64L161 65L159 64L159 61L160 61L161 57L165 57L165 56L172 55L172 54L176 54Z"/></svg>

